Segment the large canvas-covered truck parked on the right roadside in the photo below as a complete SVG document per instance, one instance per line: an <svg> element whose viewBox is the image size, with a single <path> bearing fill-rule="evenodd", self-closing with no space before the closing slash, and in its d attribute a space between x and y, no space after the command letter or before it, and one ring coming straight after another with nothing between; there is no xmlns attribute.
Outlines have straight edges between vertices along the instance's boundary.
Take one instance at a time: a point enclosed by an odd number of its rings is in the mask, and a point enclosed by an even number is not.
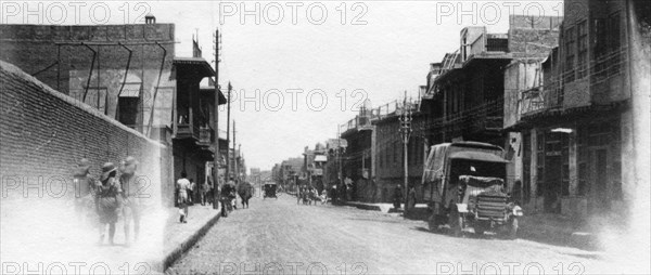
<svg viewBox="0 0 651 275"><path fill-rule="evenodd" d="M502 154L501 147L478 142L432 146L422 178L430 231L449 224L456 236L473 227L477 235L499 231L516 237L522 209L506 192L509 161Z"/></svg>

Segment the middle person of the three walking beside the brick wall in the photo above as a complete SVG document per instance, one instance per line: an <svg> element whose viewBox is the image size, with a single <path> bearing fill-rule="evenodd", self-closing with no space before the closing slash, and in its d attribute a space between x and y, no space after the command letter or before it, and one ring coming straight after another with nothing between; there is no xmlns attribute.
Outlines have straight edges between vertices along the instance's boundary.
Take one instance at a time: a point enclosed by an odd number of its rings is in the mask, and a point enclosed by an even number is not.
<svg viewBox="0 0 651 275"><path fill-rule="evenodd" d="M108 225L108 244L114 245L115 223L117 222L117 213L122 206L120 193L122 186L115 178L117 168L113 162L106 162L102 166L102 175L97 184L98 214L100 217L100 241L104 243L106 225Z"/></svg>

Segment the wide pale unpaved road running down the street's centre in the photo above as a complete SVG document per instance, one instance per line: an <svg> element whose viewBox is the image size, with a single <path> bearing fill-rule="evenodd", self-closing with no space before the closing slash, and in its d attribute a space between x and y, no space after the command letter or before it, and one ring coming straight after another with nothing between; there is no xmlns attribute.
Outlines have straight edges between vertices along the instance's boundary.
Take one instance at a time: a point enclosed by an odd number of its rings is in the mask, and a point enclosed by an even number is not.
<svg viewBox="0 0 651 275"><path fill-rule="evenodd" d="M284 196L283 196L284 195ZM596 274L596 252L495 236L456 238L423 221L254 198L221 219L167 274Z"/></svg>

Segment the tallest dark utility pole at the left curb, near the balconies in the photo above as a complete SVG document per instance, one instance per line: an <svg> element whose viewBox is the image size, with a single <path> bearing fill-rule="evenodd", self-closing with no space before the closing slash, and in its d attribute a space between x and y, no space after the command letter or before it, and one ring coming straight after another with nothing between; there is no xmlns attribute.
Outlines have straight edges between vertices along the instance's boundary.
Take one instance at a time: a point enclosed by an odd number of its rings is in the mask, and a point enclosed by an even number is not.
<svg viewBox="0 0 651 275"><path fill-rule="evenodd" d="M219 209L219 29L215 30L215 109L213 128L215 130L215 154L213 159L213 209Z"/></svg>

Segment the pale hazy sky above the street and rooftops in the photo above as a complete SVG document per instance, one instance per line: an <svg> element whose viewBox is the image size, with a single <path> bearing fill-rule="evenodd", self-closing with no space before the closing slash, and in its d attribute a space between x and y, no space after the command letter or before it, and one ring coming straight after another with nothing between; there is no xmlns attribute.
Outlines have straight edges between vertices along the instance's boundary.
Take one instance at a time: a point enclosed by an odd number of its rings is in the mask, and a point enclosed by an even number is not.
<svg viewBox="0 0 651 275"><path fill-rule="evenodd" d="M208 61L214 60L213 34L219 27L219 82L226 87L231 81L234 88L231 118L238 125L237 140L247 166L264 170L299 156L305 146L336 138L337 125L353 118L365 99L375 107L404 91L416 96L418 87L425 84L429 64L459 47L462 27L486 25L489 31L507 32L509 13L562 15L561 1L142 3L39 6L3 1L2 23L124 24L151 12L157 23L176 24L177 56L192 55L192 36L197 32ZM248 100L242 101L244 96ZM220 120L225 129L226 112Z"/></svg>

